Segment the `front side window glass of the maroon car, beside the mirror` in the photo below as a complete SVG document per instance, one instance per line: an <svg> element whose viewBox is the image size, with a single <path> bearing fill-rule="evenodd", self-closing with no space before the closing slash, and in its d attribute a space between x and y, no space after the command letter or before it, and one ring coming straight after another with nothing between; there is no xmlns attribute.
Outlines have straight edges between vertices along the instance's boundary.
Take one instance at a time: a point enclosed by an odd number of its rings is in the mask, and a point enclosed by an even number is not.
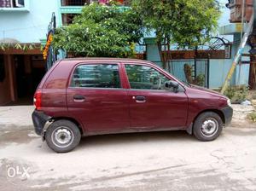
<svg viewBox="0 0 256 191"><path fill-rule="evenodd" d="M143 65L125 65L131 89L139 90L166 90L165 75L153 67Z"/></svg>

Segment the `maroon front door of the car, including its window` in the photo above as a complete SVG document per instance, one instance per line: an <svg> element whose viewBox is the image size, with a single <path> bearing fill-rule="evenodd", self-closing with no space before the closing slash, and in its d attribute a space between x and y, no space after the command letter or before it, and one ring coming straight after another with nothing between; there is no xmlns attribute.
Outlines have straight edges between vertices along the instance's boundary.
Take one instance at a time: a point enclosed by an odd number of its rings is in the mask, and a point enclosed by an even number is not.
<svg viewBox="0 0 256 191"><path fill-rule="evenodd" d="M188 114L188 97L182 87L178 92L166 88L171 78L156 67L125 64L132 129L184 128Z"/></svg>

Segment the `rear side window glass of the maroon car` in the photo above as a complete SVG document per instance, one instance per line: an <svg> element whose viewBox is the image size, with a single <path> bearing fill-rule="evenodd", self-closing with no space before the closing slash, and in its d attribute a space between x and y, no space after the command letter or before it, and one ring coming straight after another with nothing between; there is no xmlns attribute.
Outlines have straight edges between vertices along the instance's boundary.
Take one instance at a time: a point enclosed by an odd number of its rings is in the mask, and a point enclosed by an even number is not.
<svg viewBox="0 0 256 191"><path fill-rule="evenodd" d="M84 64L73 72L71 87L120 88L117 64Z"/></svg>

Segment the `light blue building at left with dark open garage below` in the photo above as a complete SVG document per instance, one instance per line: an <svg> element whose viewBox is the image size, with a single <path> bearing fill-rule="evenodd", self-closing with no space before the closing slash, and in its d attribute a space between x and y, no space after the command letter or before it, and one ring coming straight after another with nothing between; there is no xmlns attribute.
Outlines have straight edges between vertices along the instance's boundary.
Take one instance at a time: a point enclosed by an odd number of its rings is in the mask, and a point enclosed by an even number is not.
<svg viewBox="0 0 256 191"><path fill-rule="evenodd" d="M56 1L0 0L0 105L32 104L44 76L41 41Z"/></svg>

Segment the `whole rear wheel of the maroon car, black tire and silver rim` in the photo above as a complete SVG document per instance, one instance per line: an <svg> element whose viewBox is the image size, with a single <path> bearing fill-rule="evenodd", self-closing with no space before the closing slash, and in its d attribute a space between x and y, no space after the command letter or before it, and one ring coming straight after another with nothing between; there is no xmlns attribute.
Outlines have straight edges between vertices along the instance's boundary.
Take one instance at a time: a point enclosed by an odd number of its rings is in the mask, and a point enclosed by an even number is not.
<svg viewBox="0 0 256 191"><path fill-rule="evenodd" d="M65 119L57 120L46 130L45 140L49 148L56 153L67 153L79 145L81 133L79 127Z"/></svg>

